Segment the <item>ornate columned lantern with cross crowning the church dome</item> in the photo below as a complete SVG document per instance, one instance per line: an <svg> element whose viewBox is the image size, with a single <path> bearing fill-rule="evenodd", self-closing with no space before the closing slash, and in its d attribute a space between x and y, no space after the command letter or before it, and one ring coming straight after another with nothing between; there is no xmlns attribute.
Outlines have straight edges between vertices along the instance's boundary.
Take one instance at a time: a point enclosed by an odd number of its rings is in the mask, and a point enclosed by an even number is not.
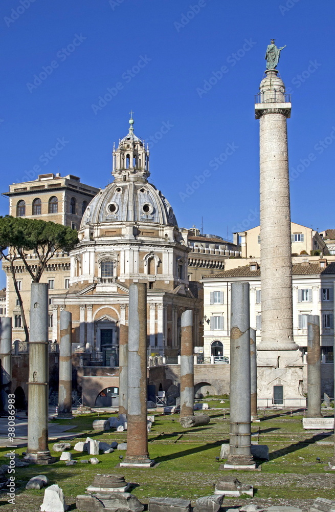
<svg viewBox="0 0 335 512"><path fill-rule="evenodd" d="M137 181L146 183L149 172L149 148L145 149L144 140L134 133L130 112L129 132L123 139L119 140L119 147L113 147L113 172L111 173L116 182Z"/></svg>

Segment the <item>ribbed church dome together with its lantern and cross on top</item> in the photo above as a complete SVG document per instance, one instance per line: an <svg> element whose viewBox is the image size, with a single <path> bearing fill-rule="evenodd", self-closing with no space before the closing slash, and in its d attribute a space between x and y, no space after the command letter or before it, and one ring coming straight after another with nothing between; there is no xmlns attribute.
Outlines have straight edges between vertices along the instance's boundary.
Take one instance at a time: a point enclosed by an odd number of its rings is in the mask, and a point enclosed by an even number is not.
<svg viewBox="0 0 335 512"><path fill-rule="evenodd" d="M81 221L87 225L108 222L145 222L177 227L173 209L160 190L148 182L149 150L144 140L129 133L113 150L115 180L91 201Z"/></svg>

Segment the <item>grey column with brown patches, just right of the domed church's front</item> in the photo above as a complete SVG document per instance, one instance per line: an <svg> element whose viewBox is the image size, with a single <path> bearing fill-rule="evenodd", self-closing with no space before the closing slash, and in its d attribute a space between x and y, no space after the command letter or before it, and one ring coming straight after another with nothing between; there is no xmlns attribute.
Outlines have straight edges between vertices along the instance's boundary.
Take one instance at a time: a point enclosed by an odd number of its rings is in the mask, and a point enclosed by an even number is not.
<svg viewBox="0 0 335 512"><path fill-rule="evenodd" d="M193 311L182 314L181 338L181 418L193 416Z"/></svg>

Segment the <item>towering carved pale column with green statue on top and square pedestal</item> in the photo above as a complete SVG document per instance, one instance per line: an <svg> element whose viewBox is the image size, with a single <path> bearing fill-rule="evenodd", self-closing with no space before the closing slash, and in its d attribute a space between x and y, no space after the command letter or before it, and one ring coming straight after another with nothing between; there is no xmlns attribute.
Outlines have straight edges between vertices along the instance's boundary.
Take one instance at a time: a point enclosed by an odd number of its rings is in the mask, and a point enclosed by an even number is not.
<svg viewBox="0 0 335 512"><path fill-rule="evenodd" d="M285 48L285 47L283 47ZM260 121L261 343L258 406L300 406L302 354L293 339L291 213L286 119L291 102L276 69L283 48L266 50L265 78L255 104Z"/></svg>

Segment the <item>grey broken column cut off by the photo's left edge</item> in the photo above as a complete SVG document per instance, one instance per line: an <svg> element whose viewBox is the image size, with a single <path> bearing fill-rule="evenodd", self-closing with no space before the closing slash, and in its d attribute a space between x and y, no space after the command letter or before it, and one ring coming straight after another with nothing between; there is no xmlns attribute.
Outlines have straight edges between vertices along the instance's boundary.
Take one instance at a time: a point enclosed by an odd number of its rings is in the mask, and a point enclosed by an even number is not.
<svg viewBox="0 0 335 512"><path fill-rule="evenodd" d="M12 319L7 316L1 319L0 359L2 409L8 412L8 395L12 381Z"/></svg>

